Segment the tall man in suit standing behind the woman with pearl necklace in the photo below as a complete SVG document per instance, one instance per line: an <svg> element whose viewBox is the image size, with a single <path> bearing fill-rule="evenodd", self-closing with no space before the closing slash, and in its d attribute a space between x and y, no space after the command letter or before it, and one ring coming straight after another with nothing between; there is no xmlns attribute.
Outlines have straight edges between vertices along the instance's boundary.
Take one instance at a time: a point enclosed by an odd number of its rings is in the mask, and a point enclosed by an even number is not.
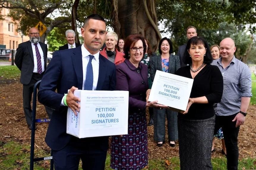
<svg viewBox="0 0 256 170"><path fill-rule="evenodd" d="M195 37L195 36L197 36L196 28L193 27L193 26L188 26L187 27L187 38L188 38L188 40L192 37ZM177 53L177 55L180 56L181 67L186 66L185 61L184 61L184 52L185 52L185 49L186 49L186 45L187 45L187 43L183 44L182 46L179 46L178 53Z"/></svg>

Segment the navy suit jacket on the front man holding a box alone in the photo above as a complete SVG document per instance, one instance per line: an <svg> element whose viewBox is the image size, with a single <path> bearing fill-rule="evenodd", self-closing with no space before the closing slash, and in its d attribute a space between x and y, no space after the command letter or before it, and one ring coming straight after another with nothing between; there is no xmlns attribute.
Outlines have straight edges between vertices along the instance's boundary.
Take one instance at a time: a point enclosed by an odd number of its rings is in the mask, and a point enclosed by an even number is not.
<svg viewBox="0 0 256 170"><path fill-rule="evenodd" d="M45 137L45 142L53 150L64 148L71 139L78 140L66 133L68 107L61 106L64 93L72 86L80 90L83 86L81 48L55 51L39 87L39 102L55 109ZM115 90L115 87L116 66L99 54L99 80L96 90ZM108 137L84 138L83 146L88 150L107 150Z"/></svg>

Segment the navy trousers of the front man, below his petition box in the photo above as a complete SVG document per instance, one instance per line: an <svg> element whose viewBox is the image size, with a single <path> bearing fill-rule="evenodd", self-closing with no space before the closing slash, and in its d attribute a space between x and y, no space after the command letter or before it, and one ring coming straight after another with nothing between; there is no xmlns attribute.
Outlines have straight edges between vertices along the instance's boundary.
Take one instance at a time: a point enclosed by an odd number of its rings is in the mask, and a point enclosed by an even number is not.
<svg viewBox="0 0 256 170"><path fill-rule="evenodd" d="M80 158L83 170L104 170L107 151L88 151L68 144L61 150L52 150L55 170L78 170Z"/></svg>

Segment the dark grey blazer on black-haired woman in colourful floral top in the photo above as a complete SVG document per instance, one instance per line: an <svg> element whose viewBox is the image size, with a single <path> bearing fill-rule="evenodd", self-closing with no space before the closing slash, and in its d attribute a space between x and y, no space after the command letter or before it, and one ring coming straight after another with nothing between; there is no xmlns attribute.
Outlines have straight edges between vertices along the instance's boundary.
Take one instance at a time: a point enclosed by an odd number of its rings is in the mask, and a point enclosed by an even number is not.
<svg viewBox="0 0 256 170"><path fill-rule="evenodd" d="M154 81L157 70L163 71L161 54L159 56L152 57L150 67L151 80ZM179 56L170 54L168 73L174 74L180 67L181 65Z"/></svg>

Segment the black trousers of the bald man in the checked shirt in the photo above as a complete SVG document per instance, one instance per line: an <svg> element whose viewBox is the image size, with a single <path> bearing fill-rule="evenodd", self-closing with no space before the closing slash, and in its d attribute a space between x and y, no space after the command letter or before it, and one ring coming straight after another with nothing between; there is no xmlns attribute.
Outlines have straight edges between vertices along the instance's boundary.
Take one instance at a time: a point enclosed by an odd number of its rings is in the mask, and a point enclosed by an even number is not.
<svg viewBox="0 0 256 170"><path fill-rule="evenodd" d="M214 134L217 133L220 127L222 127L224 141L227 149L227 169L237 170L238 169L238 145L237 137L239 127L236 127L236 121L232 120L236 117L236 114L230 116L218 116L215 119Z"/></svg>

